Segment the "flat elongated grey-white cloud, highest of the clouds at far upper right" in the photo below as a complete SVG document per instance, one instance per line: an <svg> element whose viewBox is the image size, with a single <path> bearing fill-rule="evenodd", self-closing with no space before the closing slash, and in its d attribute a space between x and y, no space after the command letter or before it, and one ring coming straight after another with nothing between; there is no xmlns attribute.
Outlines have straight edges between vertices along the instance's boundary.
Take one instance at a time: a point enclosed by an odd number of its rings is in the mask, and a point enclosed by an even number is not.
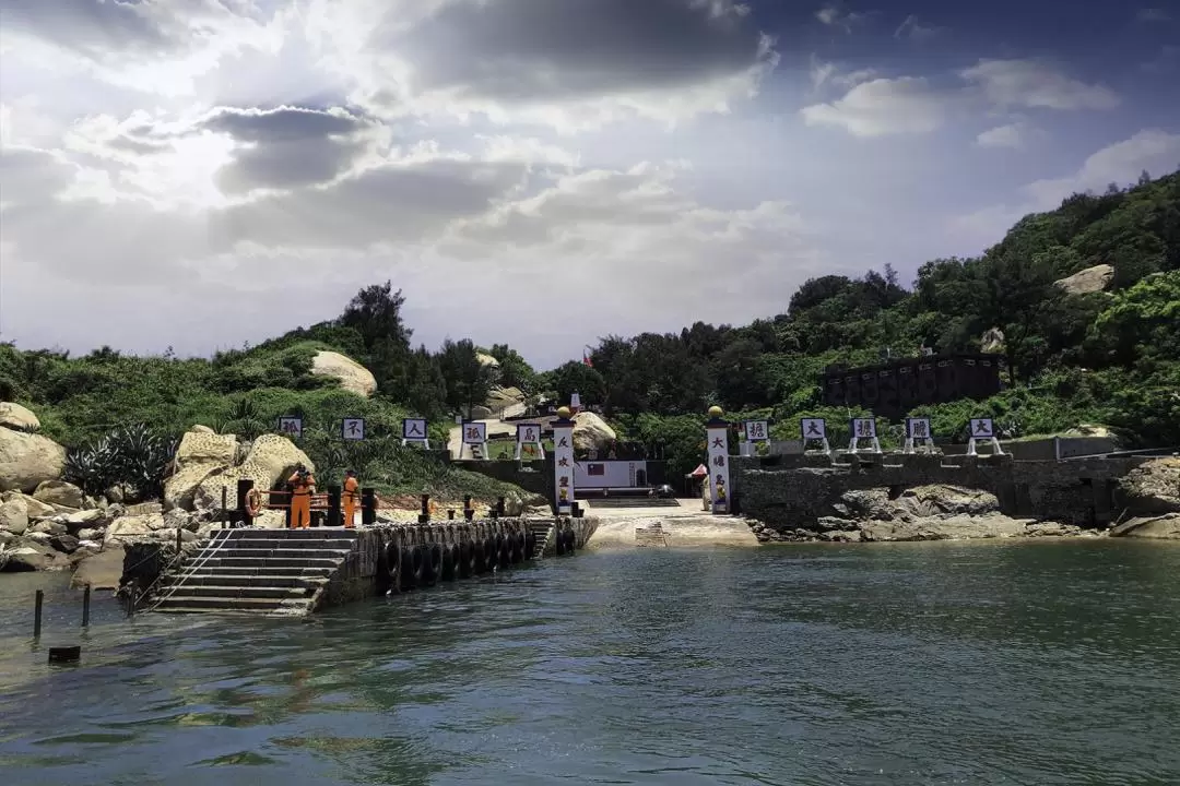
<svg viewBox="0 0 1180 786"><path fill-rule="evenodd" d="M1001 107L1112 110L1120 104L1109 87L1073 79L1040 60L981 60L961 75Z"/></svg>

